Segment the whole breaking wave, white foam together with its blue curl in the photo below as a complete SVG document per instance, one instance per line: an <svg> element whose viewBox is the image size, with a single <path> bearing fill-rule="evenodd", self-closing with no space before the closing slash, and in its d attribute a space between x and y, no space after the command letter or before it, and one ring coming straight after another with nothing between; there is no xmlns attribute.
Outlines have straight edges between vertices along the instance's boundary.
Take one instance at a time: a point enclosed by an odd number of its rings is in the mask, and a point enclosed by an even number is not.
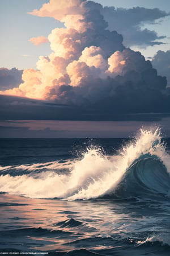
<svg viewBox="0 0 170 256"><path fill-rule="evenodd" d="M0 167L0 191L63 200L169 196L169 168L160 129L141 129L117 155L91 147L80 159Z"/></svg>

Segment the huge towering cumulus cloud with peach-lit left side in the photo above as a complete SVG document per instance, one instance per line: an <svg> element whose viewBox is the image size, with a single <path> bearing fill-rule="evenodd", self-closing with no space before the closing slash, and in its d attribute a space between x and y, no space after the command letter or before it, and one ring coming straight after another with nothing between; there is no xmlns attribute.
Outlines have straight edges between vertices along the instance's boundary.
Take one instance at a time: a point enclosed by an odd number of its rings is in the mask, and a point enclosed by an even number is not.
<svg viewBox="0 0 170 256"><path fill-rule="evenodd" d="M122 35L108 30L100 4L50 0L31 14L53 17L65 27L48 36L52 53L40 56L37 70L24 70L24 82L3 94L141 112L154 111L153 104L167 97L166 78L140 52L125 48Z"/></svg>

